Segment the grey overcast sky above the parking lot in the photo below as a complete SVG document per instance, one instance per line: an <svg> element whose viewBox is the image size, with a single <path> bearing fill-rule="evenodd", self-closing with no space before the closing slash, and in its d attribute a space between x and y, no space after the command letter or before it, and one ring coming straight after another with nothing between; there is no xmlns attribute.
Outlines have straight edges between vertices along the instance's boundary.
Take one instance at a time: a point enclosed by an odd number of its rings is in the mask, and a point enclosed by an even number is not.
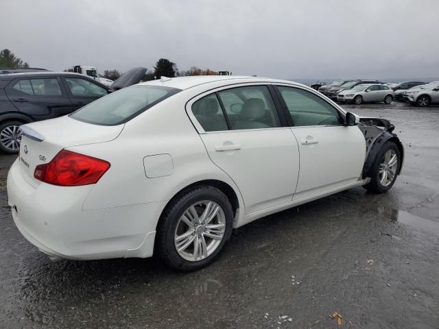
<svg viewBox="0 0 439 329"><path fill-rule="evenodd" d="M439 76L438 0L0 1L0 49L54 71L168 58L285 79Z"/></svg>

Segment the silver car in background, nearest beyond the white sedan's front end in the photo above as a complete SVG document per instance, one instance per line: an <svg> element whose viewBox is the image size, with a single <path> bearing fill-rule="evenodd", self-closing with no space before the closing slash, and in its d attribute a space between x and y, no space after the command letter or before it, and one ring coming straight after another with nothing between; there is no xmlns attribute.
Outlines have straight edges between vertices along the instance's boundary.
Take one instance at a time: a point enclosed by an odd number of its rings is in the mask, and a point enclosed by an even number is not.
<svg viewBox="0 0 439 329"><path fill-rule="evenodd" d="M393 101L393 90L383 84L359 84L339 93L337 101L355 104L383 101L385 104L390 104Z"/></svg>

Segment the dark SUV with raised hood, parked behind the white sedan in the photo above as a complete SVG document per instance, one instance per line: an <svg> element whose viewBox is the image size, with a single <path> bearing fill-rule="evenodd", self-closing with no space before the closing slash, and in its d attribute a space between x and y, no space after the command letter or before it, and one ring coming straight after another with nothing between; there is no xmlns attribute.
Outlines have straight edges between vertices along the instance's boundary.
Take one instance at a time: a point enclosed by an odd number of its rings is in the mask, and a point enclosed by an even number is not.
<svg viewBox="0 0 439 329"><path fill-rule="evenodd" d="M123 74L110 88L68 72L14 73L0 76L0 150L17 153L24 123L69 114L113 90L137 84L145 68Z"/></svg>

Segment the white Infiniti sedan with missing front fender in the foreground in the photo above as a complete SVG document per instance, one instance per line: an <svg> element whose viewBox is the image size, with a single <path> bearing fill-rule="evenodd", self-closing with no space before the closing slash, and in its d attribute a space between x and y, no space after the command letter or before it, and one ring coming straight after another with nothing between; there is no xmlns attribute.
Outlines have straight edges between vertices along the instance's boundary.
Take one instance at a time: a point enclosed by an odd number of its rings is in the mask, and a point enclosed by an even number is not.
<svg viewBox="0 0 439 329"><path fill-rule="evenodd" d="M27 240L53 260L158 253L181 271L255 219L388 191L404 155L389 121L259 77L163 77L21 129L8 197Z"/></svg>

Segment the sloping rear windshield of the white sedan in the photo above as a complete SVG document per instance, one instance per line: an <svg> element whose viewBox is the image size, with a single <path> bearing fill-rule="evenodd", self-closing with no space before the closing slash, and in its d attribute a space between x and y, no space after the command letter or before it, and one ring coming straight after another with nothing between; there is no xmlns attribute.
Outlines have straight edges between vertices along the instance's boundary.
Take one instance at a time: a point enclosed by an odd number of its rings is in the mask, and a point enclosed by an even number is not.
<svg viewBox="0 0 439 329"><path fill-rule="evenodd" d="M179 91L163 86L131 86L89 103L70 117L95 125L120 125Z"/></svg>

